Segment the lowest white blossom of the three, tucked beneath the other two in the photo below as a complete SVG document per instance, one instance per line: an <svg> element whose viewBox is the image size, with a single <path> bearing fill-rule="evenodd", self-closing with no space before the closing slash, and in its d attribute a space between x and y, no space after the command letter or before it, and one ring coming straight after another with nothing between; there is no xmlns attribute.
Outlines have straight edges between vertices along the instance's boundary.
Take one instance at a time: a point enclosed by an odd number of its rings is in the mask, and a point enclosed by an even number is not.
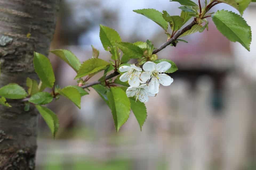
<svg viewBox="0 0 256 170"><path fill-rule="evenodd" d="M152 94L149 92L148 84L142 84L139 87L128 87L126 90L127 97L135 96L135 99L139 99L139 101L146 103L149 101L149 96L155 96L156 94Z"/></svg>

